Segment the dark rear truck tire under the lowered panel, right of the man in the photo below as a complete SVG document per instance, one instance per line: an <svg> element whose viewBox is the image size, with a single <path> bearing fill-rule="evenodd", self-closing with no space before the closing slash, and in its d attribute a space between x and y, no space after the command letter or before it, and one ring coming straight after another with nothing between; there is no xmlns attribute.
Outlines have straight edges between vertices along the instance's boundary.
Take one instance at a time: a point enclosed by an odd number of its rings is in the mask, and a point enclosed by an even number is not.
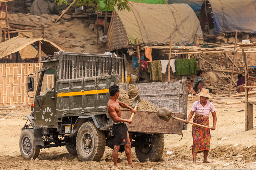
<svg viewBox="0 0 256 170"><path fill-rule="evenodd" d="M161 159L164 153L164 135L157 134L147 135L145 147L135 147L135 153L140 162L144 162L147 159L151 162L157 162Z"/></svg>

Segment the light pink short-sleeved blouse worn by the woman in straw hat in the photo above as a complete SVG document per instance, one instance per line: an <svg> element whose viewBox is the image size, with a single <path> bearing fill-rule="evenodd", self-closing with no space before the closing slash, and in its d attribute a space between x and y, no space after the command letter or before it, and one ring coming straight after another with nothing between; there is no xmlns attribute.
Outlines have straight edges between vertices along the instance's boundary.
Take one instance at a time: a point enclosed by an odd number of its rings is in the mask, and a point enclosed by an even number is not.
<svg viewBox="0 0 256 170"><path fill-rule="evenodd" d="M207 101L206 105L203 107L200 100L198 100L193 103L191 110L195 112L195 115L204 115L209 117L210 112L214 112L216 109L211 102Z"/></svg>

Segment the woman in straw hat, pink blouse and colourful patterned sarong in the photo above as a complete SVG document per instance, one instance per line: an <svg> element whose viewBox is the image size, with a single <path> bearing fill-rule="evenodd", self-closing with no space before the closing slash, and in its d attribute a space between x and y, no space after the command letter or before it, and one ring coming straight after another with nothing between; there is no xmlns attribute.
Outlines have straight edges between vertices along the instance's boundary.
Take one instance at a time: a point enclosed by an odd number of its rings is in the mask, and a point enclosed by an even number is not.
<svg viewBox="0 0 256 170"><path fill-rule="evenodd" d="M215 129L215 125L217 122L216 112L213 104L207 101L208 98L212 98L209 95L209 90L203 88L200 93L196 94L200 96L200 100L193 103L190 114L188 115L188 119L186 119L188 123L189 120L195 113L193 122L209 126L209 114L212 113L213 117L213 126L212 130ZM208 153L210 150L210 129L203 128L200 126L193 125L192 126L192 137L193 137L193 146L192 146L192 155L193 155L193 163L196 163L196 153L204 152L204 163L212 163L207 160Z"/></svg>

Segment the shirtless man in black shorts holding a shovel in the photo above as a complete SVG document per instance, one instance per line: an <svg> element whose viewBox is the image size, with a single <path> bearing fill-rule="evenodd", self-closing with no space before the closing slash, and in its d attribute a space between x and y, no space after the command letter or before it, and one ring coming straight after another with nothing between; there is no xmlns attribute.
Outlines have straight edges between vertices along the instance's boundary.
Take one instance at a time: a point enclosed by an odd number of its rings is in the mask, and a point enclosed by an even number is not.
<svg viewBox="0 0 256 170"><path fill-rule="evenodd" d="M129 124L131 124L132 120L123 119L121 117L120 106L130 109L131 113L134 112L135 114L136 112L132 107L128 106L124 102L117 100L119 96L119 87L117 85L112 85L109 87L109 94L110 94L110 99L108 100L108 103L107 103L107 110L108 110L109 117L114 122L112 126L114 139L115 139L115 147L113 151L114 166L117 166L118 151L119 151L120 145L124 145L124 151L127 157L128 166L135 168L135 166L132 163L131 142L128 134L128 128L124 123L124 122L128 122Z"/></svg>

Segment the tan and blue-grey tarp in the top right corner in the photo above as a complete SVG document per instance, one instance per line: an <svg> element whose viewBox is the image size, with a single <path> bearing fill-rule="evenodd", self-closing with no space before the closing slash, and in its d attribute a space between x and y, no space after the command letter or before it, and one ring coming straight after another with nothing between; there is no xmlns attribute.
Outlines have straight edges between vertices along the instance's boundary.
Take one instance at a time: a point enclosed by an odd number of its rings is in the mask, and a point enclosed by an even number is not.
<svg viewBox="0 0 256 170"><path fill-rule="evenodd" d="M256 33L256 0L209 0L216 34Z"/></svg>

